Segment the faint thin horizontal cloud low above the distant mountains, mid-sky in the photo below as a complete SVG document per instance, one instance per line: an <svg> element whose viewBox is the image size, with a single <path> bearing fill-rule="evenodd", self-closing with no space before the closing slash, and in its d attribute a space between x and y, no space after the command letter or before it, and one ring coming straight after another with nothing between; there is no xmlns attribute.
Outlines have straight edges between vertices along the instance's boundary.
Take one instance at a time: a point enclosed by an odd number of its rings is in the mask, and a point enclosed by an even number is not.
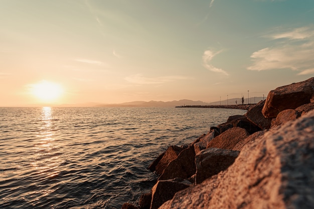
<svg viewBox="0 0 314 209"><path fill-rule="evenodd" d="M147 78L147 77L144 77L142 74L135 74L135 75L128 76L124 79L133 84L144 85L144 84L163 84L163 83L174 82L177 80L188 80L191 78L185 77L185 76L162 76L162 77L156 77L156 78Z"/></svg>

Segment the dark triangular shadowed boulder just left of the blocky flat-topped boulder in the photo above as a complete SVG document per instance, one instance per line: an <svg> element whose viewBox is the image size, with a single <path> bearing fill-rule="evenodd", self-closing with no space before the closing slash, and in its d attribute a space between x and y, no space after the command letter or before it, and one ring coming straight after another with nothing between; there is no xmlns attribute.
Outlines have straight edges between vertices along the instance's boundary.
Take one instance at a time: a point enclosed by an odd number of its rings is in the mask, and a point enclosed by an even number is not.
<svg viewBox="0 0 314 209"><path fill-rule="evenodd" d="M180 152L177 159L171 161L158 180L173 178L189 178L196 172L194 146L189 146Z"/></svg>

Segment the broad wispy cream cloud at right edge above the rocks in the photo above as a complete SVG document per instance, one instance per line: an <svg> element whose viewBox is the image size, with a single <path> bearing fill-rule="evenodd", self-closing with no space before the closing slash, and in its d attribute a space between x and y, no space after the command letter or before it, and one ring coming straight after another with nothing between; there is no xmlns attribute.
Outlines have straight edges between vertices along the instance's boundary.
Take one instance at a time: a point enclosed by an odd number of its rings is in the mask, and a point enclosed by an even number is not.
<svg viewBox="0 0 314 209"><path fill-rule="evenodd" d="M314 28L296 28L268 38L275 44L252 53L253 64L248 70L291 69L301 71L298 75L314 73Z"/></svg>

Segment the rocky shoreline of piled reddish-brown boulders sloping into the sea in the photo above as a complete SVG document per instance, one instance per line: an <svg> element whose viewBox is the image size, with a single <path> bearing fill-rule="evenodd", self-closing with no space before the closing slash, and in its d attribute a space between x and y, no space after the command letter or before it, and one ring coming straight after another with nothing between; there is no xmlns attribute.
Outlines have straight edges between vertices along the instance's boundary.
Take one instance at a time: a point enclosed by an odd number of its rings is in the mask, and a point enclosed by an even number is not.
<svg viewBox="0 0 314 209"><path fill-rule="evenodd" d="M314 78L270 91L148 169L158 181L122 209L314 208Z"/></svg>

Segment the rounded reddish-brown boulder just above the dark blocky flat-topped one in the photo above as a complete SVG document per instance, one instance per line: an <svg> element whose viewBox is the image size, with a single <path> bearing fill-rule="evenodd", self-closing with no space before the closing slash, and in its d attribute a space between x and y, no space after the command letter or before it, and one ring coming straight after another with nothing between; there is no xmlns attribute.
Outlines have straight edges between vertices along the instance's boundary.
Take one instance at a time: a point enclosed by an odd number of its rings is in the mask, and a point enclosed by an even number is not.
<svg viewBox="0 0 314 209"><path fill-rule="evenodd" d="M249 135L250 134L244 128L230 128L207 143L206 148L233 149L237 143L244 140Z"/></svg>

